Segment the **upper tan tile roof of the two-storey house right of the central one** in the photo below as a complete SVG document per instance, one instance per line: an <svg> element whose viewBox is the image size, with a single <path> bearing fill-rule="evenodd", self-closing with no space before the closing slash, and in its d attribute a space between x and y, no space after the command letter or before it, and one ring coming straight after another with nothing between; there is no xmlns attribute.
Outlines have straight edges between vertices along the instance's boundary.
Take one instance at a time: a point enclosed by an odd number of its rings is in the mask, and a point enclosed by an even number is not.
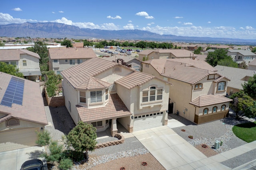
<svg viewBox="0 0 256 170"><path fill-rule="evenodd" d="M208 63L205 64L205 61L196 59L153 59L143 63L151 64L162 76L189 84L196 84L209 74L216 74L215 68L208 66ZM211 68L211 70L203 68Z"/></svg>

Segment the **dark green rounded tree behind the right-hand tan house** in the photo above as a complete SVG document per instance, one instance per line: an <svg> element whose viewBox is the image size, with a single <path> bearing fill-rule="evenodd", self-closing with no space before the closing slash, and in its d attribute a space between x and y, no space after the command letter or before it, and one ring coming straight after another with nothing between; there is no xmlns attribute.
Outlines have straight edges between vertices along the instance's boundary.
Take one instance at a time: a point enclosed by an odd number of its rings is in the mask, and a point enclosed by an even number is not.
<svg viewBox="0 0 256 170"><path fill-rule="evenodd" d="M213 52L209 52L206 57L206 62L209 63L211 66L216 66L218 61L225 59L228 57L228 51L224 49L216 49Z"/></svg>

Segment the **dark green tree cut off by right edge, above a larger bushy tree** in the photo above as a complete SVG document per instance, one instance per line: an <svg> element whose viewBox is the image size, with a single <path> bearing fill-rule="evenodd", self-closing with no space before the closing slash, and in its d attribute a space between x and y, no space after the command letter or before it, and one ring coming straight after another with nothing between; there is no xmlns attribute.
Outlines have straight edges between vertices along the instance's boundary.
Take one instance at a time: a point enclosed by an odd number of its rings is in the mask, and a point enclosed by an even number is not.
<svg viewBox="0 0 256 170"><path fill-rule="evenodd" d="M256 74L250 77L247 83L242 84L244 92L256 100Z"/></svg>

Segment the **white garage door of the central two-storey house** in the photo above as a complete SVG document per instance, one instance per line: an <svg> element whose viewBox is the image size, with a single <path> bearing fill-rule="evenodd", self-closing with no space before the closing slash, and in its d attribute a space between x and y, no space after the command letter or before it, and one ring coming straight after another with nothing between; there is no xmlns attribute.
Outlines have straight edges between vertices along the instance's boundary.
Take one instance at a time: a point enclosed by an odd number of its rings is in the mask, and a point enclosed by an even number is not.
<svg viewBox="0 0 256 170"><path fill-rule="evenodd" d="M163 125L163 112L150 113L134 117L133 130L138 131Z"/></svg>

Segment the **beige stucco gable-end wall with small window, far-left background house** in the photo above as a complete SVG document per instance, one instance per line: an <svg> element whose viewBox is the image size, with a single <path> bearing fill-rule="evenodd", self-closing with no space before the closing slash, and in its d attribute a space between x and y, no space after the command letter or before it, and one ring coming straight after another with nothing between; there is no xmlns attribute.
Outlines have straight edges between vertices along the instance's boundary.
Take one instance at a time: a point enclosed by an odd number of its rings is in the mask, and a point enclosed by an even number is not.
<svg viewBox="0 0 256 170"><path fill-rule="evenodd" d="M26 66L23 66L23 60L26 60ZM17 68L19 68L20 70L40 68L39 59L28 54L21 54Z"/></svg>

